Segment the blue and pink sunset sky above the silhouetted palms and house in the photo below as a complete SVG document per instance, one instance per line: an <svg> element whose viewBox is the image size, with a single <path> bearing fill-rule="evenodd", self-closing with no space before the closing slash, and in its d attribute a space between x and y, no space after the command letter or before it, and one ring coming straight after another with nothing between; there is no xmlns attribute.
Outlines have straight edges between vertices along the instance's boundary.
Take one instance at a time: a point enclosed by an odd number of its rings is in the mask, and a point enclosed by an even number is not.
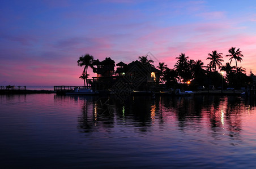
<svg viewBox="0 0 256 169"><path fill-rule="evenodd" d="M117 64L150 52L173 68L181 53L207 65L214 50L225 64L231 47L256 74L256 1L0 0L0 21L0 86L83 86L84 54Z"/></svg>

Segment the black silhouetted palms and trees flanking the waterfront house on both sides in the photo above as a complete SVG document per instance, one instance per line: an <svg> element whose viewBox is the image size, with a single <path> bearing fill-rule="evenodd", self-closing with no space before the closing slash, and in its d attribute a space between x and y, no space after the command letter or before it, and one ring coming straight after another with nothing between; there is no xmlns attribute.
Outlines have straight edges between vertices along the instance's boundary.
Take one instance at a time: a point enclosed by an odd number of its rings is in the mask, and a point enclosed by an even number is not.
<svg viewBox="0 0 256 169"><path fill-rule="evenodd" d="M159 63L156 68L161 71L160 74L160 86L165 86L167 88L177 88L180 86L187 86L188 82L190 87L195 89L198 86L209 86L213 85L216 87L221 87L222 81L224 81L224 87L230 86L235 88L246 87L250 82L251 78L245 74L245 69L242 66L238 66L238 62L242 62L242 51L240 48L231 47L228 50L229 54L226 55L229 58L229 63L223 63L223 54L218 53L216 50L208 54L207 60L210 63L204 65L202 60L189 59L189 56L181 53L176 57L176 64L173 69L168 68L168 66L162 62ZM152 65L153 60L148 60L147 56L139 56L139 61L144 65ZM232 61L235 61L236 65L232 66ZM86 54L80 56L77 61L78 66L84 66L83 73L79 77L84 80L84 85L86 85L86 79L88 78L87 70L88 67L93 68L93 56ZM219 72L217 71L219 69ZM223 73L225 76L223 77Z"/></svg>

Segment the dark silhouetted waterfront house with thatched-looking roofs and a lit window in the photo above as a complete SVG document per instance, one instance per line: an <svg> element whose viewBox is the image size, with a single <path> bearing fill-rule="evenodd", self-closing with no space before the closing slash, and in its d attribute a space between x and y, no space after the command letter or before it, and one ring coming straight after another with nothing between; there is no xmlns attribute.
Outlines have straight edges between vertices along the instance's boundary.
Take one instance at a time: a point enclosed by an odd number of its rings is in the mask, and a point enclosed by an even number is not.
<svg viewBox="0 0 256 169"><path fill-rule="evenodd" d="M117 64L116 72L114 61L110 57L103 61L96 60L93 64L96 66L93 73L97 74L97 77L89 80L93 90L108 91L118 81L129 85L131 90L151 90L156 85L155 82L159 82L161 73L152 65L144 65L138 60L130 64L121 61Z"/></svg>

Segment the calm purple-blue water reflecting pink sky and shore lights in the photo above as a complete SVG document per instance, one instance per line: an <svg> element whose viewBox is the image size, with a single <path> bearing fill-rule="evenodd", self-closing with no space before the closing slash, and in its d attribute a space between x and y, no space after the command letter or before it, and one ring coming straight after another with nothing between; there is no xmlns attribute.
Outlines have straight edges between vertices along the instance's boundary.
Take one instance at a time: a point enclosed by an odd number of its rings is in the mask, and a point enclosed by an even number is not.
<svg viewBox="0 0 256 169"><path fill-rule="evenodd" d="M255 168L256 109L241 97L0 95L3 168Z"/></svg>

